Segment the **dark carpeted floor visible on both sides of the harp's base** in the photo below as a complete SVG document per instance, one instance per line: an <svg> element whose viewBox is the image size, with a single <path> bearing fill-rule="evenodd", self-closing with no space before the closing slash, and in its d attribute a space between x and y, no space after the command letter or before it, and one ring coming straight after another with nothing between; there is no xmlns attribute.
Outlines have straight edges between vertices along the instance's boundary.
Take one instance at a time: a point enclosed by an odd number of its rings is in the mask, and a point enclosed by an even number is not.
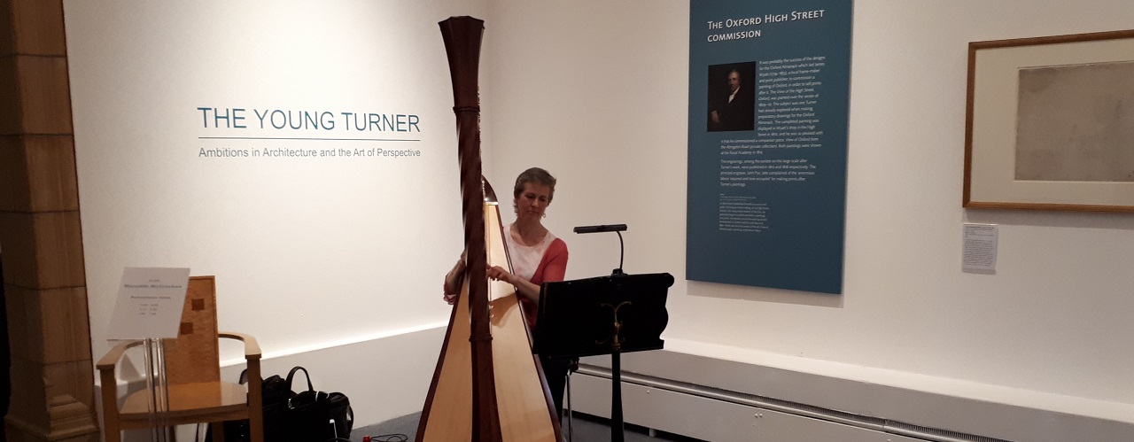
<svg viewBox="0 0 1134 442"><path fill-rule="evenodd" d="M401 416L376 425L354 428L350 432L352 442L362 442L364 436L371 436L373 442L413 441L416 437L417 422L421 413ZM568 430L570 430L568 432ZM568 426L568 419L562 420L564 439L573 442L599 442L610 440L610 422L601 417L575 414L575 419ZM568 439L568 433L573 437ZM648 428L626 425L626 442L696 442L696 439L679 436L665 432L655 432L653 436Z"/></svg>

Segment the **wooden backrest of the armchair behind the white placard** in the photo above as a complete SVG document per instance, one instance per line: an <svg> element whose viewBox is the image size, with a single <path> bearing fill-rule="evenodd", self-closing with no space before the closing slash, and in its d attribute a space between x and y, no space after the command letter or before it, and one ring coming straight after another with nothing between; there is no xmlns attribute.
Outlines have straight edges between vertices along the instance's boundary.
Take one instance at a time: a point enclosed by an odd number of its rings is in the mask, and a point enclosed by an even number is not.
<svg viewBox="0 0 1134 442"><path fill-rule="evenodd" d="M177 339L166 340L166 379L172 384L220 381L217 281L191 277Z"/></svg>

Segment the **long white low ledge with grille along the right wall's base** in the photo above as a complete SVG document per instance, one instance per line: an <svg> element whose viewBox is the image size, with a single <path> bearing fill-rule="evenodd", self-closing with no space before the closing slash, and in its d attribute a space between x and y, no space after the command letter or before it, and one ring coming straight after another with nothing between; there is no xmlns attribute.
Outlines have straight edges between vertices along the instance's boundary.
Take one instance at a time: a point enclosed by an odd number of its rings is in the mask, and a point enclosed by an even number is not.
<svg viewBox="0 0 1134 442"><path fill-rule="evenodd" d="M821 362L793 363L794 369L771 362L776 366L675 350L623 355L625 420L712 441L753 440L755 435L760 440L854 441L860 430L895 441L902 435L925 440L922 434L934 431L939 441L1134 440L1134 414L1115 417L1129 410L1129 405L863 367L847 368L843 375L828 369L838 364L802 368ZM582 372L589 365L592 369L573 376L574 408L608 417L610 357L584 358L583 364ZM760 407L761 398L770 407ZM840 435L829 433L833 431Z"/></svg>

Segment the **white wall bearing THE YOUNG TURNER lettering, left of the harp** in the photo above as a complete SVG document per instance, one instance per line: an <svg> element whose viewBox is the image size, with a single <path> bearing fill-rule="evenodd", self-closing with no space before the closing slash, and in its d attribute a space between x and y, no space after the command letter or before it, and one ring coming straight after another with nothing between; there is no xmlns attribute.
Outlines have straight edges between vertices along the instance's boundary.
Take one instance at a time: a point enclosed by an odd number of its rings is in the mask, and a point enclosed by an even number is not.
<svg viewBox="0 0 1134 442"><path fill-rule="evenodd" d="M450 312L441 275L463 247L437 23L485 9L465 0L67 1L94 358L109 348L124 266L188 266L217 275L220 328L259 339L265 375L307 365L323 381L316 388L354 399L359 425L420 409ZM245 108L248 128L205 127L198 107ZM252 109L417 114L421 131L362 137L420 141L200 138L359 137L342 120L335 130L260 129ZM198 156L265 147L422 155ZM339 360L344 348L364 354ZM222 360L239 350L222 348Z"/></svg>

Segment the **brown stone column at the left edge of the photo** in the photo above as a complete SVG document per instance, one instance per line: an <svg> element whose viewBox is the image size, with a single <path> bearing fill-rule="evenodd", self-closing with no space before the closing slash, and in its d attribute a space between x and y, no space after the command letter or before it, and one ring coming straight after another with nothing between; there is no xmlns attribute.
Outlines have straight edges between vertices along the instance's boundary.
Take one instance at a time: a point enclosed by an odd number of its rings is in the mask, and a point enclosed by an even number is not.
<svg viewBox="0 0 1134 442"><path fill-rule="evenodd" d="M61 0L0 0L10 442L99 440Z"/></svg>

